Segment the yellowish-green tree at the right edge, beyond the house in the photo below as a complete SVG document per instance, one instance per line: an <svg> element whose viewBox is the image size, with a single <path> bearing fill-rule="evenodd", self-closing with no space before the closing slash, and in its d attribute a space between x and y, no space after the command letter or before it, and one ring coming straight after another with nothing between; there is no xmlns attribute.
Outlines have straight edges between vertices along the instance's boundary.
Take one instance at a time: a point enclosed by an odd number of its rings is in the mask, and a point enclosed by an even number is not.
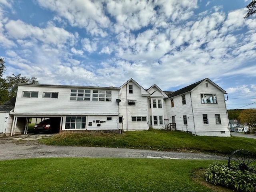
<svg viewBox="0 0 256 192"><path fill-rule="evenodd" d="M256 132L256 109L245 109L239 116L240 121L248 124L249 132Z"/></svg>

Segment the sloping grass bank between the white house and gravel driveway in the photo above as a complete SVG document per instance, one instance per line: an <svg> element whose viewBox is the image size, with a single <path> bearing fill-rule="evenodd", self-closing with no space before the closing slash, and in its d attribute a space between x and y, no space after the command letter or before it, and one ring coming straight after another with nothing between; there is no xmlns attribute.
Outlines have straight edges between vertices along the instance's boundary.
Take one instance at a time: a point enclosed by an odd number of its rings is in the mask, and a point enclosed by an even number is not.
<svg viewBox="0 0 256 192"><path fill-rule="evenodd" d="M42 140L44 144L60 146L95 146L136 148L162 151L194 151L230 154L237 149L256 152L256 139L242 137L194 136L179 131L147 130L123 134L95 132L61 132Z"/></svg>

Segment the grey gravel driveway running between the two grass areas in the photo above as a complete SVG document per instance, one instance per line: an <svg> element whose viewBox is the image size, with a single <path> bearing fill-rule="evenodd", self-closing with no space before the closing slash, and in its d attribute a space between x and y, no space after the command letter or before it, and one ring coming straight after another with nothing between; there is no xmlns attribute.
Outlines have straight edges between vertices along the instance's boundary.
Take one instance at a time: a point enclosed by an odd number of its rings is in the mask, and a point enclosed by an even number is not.
<svg viewBox="0 0 256 192"><path fill-rule="evenodd" d="M228 160L226 156L203 153L163 152L123 148L46 146L39 144L37 141L38 138L35 140L27 138L22 141L13 140L13 138L0 138L0 160L48 157Z"/></svg>

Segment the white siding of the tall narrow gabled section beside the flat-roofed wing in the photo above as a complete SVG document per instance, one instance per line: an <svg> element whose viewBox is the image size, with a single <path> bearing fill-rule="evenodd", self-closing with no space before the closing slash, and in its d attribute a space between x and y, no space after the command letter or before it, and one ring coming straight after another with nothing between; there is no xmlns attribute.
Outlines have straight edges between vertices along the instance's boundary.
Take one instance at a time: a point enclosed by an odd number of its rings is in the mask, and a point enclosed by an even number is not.
<svg viewBox="0 0 256 192"><path fill-rule="evenodd" d="M128 86L127 86L128 85ZM129 93L129 85L133 85L133 93ZM127 86L127 94L126 94ZM128 82L122 86L120 95L120 116L123 116L123 128L124 131L127 130L148 130L148 100L147 96L141 96L141 89L132 81ZM145 91L144 91L145 92ZM126 97L127 96L127 97ZM127 100L136 100L135 106L130 106L127 104ZM146 116L146 122L132 122L132 116Z"/></svg>

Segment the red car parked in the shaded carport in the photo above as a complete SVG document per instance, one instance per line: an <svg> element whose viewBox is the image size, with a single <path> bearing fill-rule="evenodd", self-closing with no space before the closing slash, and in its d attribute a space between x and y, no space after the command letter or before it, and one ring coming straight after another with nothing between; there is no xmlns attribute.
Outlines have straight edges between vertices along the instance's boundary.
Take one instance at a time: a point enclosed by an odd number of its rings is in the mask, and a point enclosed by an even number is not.
<svg viewBox="0 0 256 192"><path fill-rule="evenodd" d="M34 126L34 134L40 132L58 133L60 131L60 118L45 119Z"/></svg>

